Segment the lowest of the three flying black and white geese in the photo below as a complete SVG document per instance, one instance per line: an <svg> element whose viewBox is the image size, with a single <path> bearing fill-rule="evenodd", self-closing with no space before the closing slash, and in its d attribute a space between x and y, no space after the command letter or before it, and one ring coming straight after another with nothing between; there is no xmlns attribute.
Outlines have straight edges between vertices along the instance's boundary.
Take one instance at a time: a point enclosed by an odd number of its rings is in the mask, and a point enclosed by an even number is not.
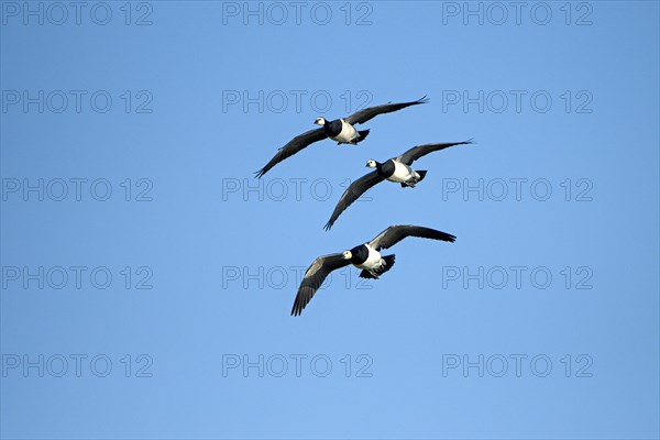
<svg viewBox="0 0 660 440"><path fill-rule="evenodd" d="M326 277L338 268L349 264L362 270L362 278L377 279L394 265L395 255L381 255L381 250L388 249L404 240L407 237L419 237L422 239L441 240L453 243L457 238L447 232L437 231L430 228L415 227L409 224L392 226L376 235L370 242L360 244L350 251L343 253L319 256L311 263L311 266L305 273L292 316L298 316L314 297Z"/></svg>

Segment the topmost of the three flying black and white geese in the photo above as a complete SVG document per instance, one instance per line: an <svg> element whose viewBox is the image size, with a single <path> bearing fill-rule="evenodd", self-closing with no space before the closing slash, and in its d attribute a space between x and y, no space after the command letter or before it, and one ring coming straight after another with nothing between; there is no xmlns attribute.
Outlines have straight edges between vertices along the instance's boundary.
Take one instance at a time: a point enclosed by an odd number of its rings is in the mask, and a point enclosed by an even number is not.
<svg viewBox="0 0 660 440"><path fill-rule="evenodd" d="M266 166L256 172L256 177L262 177L271 168L285 158L293 156L306 146L326 138L330 138L338 144L358 145L359 142L366 138L369 130L358 131L353 125L364 123L377 117L378 114L391 113L393 111L405 109L406 107L417 106L426 102L428 102L428 99L424 97L410 102L385 103L383 106L370 107L367 109L360 110L350 117L337 119L334 121L327 121L324 118L317 118L315 124L321 125L320 129L310 130L294 138L289 143L279 148L277 154L273 156Z"/></svg>

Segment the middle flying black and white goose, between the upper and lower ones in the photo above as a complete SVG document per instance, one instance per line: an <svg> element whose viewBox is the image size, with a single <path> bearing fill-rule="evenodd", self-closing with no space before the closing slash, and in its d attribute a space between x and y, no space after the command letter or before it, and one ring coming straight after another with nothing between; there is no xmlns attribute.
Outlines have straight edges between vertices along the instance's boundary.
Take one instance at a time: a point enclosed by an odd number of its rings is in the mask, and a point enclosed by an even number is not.
<svg viewBox="0 0 660 440"><path fill-rule="evenodd" d="M334 207L334 211L332 216L330 216L330 220L326 223L326 230L330 230L332 224L337 221L339 216L349 207L351 204L360 198L364 193L366 193L371 187L380 184L383 180L389 180L397 184L402 184L402 187L415 187L419 182L421 182L427 172L426 170L415 170L410 167L413 162L418 160L419 157L426 156L429 153L444 150L454 145L465 145L471 144L472 140L464 142L449 142L441 144L425 144L417 145L405 152L398 157L393 157L384 163L380 163L373 160L366 162L366 166L369 168L376 168L374 172L365 174L360 177L358 180L353 182L346 190L342 194L341 198L337 202Z"/></svg>

